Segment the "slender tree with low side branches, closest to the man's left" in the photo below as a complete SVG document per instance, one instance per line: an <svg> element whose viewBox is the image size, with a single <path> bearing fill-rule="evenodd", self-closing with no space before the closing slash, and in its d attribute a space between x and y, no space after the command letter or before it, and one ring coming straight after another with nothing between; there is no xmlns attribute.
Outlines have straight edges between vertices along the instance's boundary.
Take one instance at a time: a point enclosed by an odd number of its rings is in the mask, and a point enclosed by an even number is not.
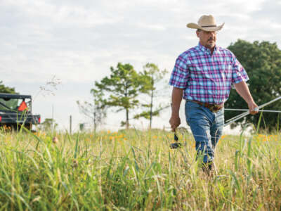
<svg viewBox="0 0 281 211"><path fill-rule="evenodd" d="M162 81L164 76L166 75L166 70L159 70L157 65L153 63L147 63L143 67L143 72L141 72L141 75L143 76L143 79L145 79L145 94L148 94L150 96L150 102L142 104L141 106L143 108L146 108L142 113L135 115L134 118L138 119L140 117L144 117L147 120L150 120L150 129L152 127L152 117L159 116L159 113L164 110L165 108L168 108L169 106L162 106L159 104L156 109L155 107L155 98L158 95L157 87L159 87L159 82Z"/></svg>

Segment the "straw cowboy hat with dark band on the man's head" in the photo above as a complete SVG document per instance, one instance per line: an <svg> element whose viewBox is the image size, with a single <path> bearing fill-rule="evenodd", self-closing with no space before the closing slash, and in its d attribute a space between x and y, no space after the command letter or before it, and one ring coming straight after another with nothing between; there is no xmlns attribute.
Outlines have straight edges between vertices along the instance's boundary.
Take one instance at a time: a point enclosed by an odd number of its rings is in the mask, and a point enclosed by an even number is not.
<svg viewBox="0 0 281 211"><path fill-rule="evenodd" d="M223 25L216 25L216 20L213 17L213 15L202 15L199 20L198 24L196 23L188 23L186 26L192 29L199 29L199 30L204 30L204 31L218 31L223 28Z"/></svg>

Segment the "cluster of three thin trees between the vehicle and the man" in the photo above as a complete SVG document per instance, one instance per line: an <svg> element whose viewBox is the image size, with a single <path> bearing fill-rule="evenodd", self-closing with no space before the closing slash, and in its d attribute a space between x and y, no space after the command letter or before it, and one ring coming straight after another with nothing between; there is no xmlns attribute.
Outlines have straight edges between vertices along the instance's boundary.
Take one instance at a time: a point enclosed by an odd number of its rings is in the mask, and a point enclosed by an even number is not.
<svg viewBox="0 0 281 211"><path fill-rule="evenodd" d="M91 89L93 102L77 101L77 104L81 113L93 119L94 130L105 118L107 108L116 108L116 112L122 110L125 112L121 126L125 126L126 129L129 128L131 119L141 117L149 120L151 128L152 118L169 107L169 103L162 105L155 102L166 73L166 70L159 70L154 63L147 63L141 72L137 72L129 63L118 63L116 68L110 68L110 76L95 82L95 86ZM141 95L148 101L140 101ZM130 117L131 111L136 108L142 108L142 111Z"/></svg>

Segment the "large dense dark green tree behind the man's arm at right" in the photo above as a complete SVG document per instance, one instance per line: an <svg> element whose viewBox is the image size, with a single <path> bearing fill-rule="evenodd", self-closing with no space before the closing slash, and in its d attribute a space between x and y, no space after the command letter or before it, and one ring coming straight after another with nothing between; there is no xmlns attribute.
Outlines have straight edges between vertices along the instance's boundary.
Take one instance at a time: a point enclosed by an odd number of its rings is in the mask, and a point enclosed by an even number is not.
<svg viewBox="0 0 281 211"><path fill-rule="evenodd" d="M238 39L235 44L230 44L228 49L232 51L249 76L249 89L256 104L262 105L281 94L281 51L276 43L268 41L254 41L250 43ZM236 91L230 91L230 97L226 101L226 108L247 108L247 103L241 100ZM266 110L280 110L281 101L277 101ZM237 115L235 111L226 111L226 119ZM262 129L273 131L276 127L276 114L263 113L266 125L261 122ZM278 116L280 118L280 116ZM246 121L253 122L255 125L259 121L259 115L248 115L242 120L233 124L244 124Z"/></svg>

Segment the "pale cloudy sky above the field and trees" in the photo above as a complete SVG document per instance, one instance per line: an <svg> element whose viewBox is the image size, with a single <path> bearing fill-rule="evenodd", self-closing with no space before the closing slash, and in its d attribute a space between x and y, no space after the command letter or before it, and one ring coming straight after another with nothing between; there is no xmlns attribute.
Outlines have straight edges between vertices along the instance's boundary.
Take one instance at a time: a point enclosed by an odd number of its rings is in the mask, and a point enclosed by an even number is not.
<svg viewBox="0 0 281 211"><path fill-rule="evenodd" d="M53 116L60 129L69 129L72 115L74 130L84 122L90 127L77 101L91 101L94 82L109 76L111 66L130 63L141 71L155 63L170 74L177 56L198 43L186 24L209 14L225 23L218 46L244 39L280 48L280 11L281 0L0 0L0 81L31 94L42 121ZM169 87L159 101L170 98ZM169 115L165 110L152 126L169 127ZM119 129L124 118L107 110L103 128ZM185 127L183 108L181 119ZM131 123L148 127L146 120Z"/></svg>

